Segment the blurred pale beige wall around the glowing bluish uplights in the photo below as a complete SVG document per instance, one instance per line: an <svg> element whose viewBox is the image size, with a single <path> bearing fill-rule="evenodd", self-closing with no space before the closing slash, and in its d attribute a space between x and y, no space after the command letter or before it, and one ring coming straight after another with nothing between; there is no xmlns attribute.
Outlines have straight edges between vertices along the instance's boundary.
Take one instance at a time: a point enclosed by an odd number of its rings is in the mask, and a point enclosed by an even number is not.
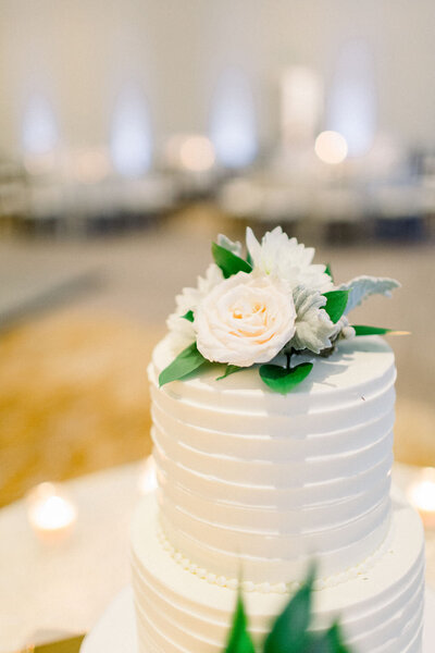
<svg viewBox="0 0 435 653"><path fill-rule="evenodd" d="M0 0L0 150L16 152L29 98L48 99L61 145L109 140L126 83L148 101L153 138L208 132L226 66L252 83L260 140L278 128L278 73L332 79L363 37L375 62L377 126L435 144L433 0Z"/></svg>

